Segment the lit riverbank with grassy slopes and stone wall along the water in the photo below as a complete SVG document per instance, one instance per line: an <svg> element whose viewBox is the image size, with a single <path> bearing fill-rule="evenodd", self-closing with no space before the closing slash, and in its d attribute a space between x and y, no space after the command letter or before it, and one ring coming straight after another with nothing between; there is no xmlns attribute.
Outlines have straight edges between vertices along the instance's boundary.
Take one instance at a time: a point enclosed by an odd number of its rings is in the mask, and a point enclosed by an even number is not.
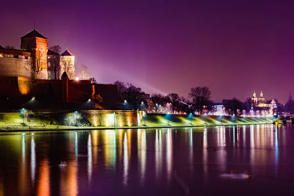
<svg viewBox="0 0 294 196"><path fill-rule="evenodd" d="M103 112L103 111L102 111ZM103 113L78 111L76 113L1 113L0 131L38 130L95 130L130 128L172 128L220 125L270 124L271 117L232 117L213 115L146 114L136 111ZM118 117L117 117L118 116ZM98 119L98 120L97 120ZM124 120L121 120L124 119ZM105 122L103 122L105 121ZM123 122L123 123L122 123ZM99 125L98 125L99 124Z"/></svg>

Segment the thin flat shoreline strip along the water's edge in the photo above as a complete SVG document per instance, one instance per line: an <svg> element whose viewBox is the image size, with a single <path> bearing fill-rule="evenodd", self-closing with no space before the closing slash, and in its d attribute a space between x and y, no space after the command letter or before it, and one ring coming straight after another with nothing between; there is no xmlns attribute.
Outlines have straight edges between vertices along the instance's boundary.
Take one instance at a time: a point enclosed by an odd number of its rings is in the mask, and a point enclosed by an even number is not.
<svg viewBox="0 0 294 196"><path fill-rule="evenodd" d="M206 126L238 126L238 125L256 125L256 124L273 124L273 123L246 123L246 124L190 124L190 125L158 125L158 126L87 126L87 127L76 127L76 126L10 126L8 129L0 127L0 133L9 132L31 132L31 131L70 131L70 130L103 130L103 129L152 129L152 128L183 128L183 127L206 127Z"/></svg>

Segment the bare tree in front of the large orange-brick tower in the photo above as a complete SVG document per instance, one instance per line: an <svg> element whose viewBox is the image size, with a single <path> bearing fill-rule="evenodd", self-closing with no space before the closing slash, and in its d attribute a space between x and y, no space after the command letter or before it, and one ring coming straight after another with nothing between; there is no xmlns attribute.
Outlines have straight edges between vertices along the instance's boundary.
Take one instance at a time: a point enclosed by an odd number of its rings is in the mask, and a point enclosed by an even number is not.
<svg viewBox="0 0 294 196"><path fill-rule="evenodd" d="M38 78L39 73L43 71L46 66L45 55L42 50L36 49L36 52L31 53L30 60L28 61L26 70L33 73L35 80Z"/></svg>

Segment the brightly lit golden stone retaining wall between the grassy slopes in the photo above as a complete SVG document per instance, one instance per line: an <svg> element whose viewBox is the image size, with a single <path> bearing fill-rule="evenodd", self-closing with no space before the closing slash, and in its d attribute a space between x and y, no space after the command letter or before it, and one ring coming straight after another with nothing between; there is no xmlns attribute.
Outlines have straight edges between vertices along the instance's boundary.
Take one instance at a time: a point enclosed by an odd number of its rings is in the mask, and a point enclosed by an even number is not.
<svg viewBox="0 0 294 196"><path fill-rule="evenodd" d="M93 126L136 126L144 111L125 110L80 110L79 113ZM141 114L142 113L142 114ZM139 118L138 118L139 117Z"/></svg>

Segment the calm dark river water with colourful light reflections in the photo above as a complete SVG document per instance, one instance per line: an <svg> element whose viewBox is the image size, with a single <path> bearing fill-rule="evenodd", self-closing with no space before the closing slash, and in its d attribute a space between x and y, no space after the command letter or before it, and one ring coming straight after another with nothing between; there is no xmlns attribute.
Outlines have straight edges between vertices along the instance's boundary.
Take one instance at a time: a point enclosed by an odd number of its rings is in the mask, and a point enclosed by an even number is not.
<svg viewBox="0 0 294 196"><path fill-rule="evenodd" d="M294 194L292 125L3 133L0 149L0 196Z"/></svg>

